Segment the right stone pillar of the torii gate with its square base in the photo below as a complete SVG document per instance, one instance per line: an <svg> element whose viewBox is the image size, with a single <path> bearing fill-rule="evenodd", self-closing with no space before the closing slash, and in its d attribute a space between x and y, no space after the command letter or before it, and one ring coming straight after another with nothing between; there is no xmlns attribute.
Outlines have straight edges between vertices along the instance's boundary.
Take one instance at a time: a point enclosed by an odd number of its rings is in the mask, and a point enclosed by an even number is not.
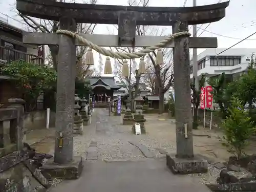
<svg viewBox="0 0 256 192"><path fill-rule="evenodd" d="M188 31L186 22L176 22L173 33ZM189 39L175 39L174 91L176 120L176 154L166 155L166 164L175 174L206 173L207 161L194 154L191 112Z"/></svg>

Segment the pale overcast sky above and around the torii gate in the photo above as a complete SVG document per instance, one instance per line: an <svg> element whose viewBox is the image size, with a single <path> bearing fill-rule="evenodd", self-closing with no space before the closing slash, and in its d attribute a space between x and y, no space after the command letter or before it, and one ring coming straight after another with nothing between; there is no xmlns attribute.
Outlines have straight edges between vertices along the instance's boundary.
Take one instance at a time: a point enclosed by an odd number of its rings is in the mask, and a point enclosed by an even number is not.
<svg viewBox="0 0 256 192"><path fill-rule="evenodd" d="M137 0L138 1L138 0ZM223 0L224 2L226 0ZM77 2L82 2L78 0ZM218 3L219 0L197 0L197 5L208 5ZM14 17L20 20L15 12L15 0L0 0L0 17L6 18L8 16ZM98 0L97 4L105 5L127 5L127 0ZM150 0L150 6L156 7L182 7L184 0ZM192 6L193 0L187 0L186 7ZM219 22L210 24L210 26L201 35L208 37L218 37L218 48L228 48L233 44L236 44L240 39L243 39L253 32L256 31L256 0L230 0L229 7L226 9L226 16ZM10 21L10 19L9 19ZM13 25L17 25L16 22L11 21ZM204 29L208 24L203 26L199 25ZM171 32L172 27L169 27L165 33ZM170 30L168 32L168 30ZM201 34L203 30L198 30L198 35ZM95 29L96 34L109 34L110 32L117 33L114 31L112 26L107 25L97 25ZM192 29L190 30L192 32ZM256 35L249 38L250 40L245 40L235 46L234 48L256 48ZM254 40L253 40L254 39ZM198 50L200 53L203 50Z"/></svg>

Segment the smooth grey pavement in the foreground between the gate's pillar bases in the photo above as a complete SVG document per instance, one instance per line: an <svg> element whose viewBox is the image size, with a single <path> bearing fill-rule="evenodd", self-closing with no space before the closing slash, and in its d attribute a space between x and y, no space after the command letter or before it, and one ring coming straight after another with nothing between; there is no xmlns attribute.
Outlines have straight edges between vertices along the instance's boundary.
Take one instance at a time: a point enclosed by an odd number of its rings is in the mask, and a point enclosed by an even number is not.
<svg viewBox="0 0 256 192"><path fill-rule="evenodd" d="M50 192L209 192L205 185L188 176L173 175L165 159L110 162L86 161L78 180L65 181Z"/></svg>

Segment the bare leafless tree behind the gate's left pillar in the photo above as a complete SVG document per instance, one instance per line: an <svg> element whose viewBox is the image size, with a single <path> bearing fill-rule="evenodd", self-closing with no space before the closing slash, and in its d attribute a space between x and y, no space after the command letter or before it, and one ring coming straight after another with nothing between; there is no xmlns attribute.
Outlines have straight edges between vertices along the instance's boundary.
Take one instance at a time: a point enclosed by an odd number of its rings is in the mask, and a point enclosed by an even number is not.
<svg viewBox="0 0 256 192"><path fill-rule="evenodd" d="M57 1L57 0L55 0ZM90 4L96 4L97 0L90 0ZM58 2L65 2L65 0L58 0ZM75 0L70 1L69 3L75 3ZM59 28L59 22L46 20L46 19L36 19L21 13L18 13L20 17L22 17L23 21L31 28L33 28L37 32L41 33L55 33ZM89 33L92 34L96 24L77 24L77 32L79 33ZM49 55L48 55L48 65L51 65L55 70L57 70L58 63L58 46L56 45L48 45L49 47ZM76 64L77 69L83 70L78 72L79 74L84 74L86 72L90 72L90 66L84 66L84 55L87 51L87 47L77 47L76 51ZM81 66L83 65L83 66ZM91 72L90 72L91 73Z"/></svg>

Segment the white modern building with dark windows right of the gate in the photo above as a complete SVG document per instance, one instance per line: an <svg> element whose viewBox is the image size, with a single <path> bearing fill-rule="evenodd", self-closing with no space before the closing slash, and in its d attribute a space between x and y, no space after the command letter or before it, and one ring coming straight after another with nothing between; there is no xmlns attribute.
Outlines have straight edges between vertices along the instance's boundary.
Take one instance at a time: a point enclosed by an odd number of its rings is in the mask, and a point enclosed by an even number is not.
<svg viewBox="0 0 256 192"><path fill-rule="evenodd" d="M236 79L246 73L251 54L256 49L206 49L198 55L198 76L206 73L207 76L225 74L232 75ZM223 53L221 53L224 51ZM219 54L221 53L221 54ZM218 55L219 54L219 55ZM216 55L218 55L216 57ZM193 62L190 62L190 78L193 78Z"/></svg>

